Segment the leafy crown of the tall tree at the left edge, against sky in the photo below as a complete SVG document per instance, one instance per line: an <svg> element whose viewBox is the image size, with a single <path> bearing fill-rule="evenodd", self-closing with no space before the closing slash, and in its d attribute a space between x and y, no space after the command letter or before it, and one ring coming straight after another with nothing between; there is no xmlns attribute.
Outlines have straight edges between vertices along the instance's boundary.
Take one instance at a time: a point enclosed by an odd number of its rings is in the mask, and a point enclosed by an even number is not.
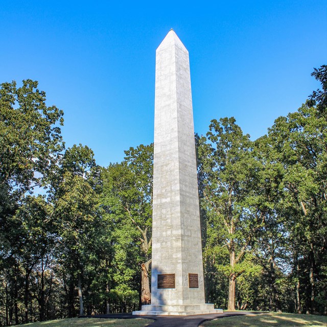
<svg viewBox="0 0 327 327"><path fill-rule="evenodd" d="M0 86L0 215L35 186L44 186L63 150L63 112L47 107L38 82Z"/></svg>

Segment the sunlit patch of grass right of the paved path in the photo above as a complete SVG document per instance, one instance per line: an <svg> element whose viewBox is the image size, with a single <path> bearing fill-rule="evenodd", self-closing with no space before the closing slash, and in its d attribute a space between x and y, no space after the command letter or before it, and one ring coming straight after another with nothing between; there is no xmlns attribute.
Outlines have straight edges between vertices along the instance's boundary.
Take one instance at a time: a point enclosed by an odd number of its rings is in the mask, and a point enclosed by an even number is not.
<svg viewBox="0 0 327 327"><path fill-rule="evenodd" d="M327 327L326 316L265 313L206 321L203 327Z"/></svg>

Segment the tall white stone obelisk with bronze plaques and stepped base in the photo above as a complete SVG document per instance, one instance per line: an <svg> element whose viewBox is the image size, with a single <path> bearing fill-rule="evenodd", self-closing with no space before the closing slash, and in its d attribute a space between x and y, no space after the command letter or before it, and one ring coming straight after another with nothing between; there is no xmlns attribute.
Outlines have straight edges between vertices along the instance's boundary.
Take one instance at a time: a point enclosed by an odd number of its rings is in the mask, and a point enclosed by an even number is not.
<svg viewBox="0 0 327 327"><path fill-rule="evenodd" d="M156 50L151 305L139 315L218 313L204 300L189 52L171 30Z"/></svg>

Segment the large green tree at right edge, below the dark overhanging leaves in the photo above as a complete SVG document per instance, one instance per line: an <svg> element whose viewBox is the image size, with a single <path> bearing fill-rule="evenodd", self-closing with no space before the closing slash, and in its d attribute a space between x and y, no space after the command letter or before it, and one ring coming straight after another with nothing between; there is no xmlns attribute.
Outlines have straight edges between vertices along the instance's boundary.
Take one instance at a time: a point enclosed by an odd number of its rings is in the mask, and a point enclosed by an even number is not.
<svg viewBox="0 0 327 327"><path fill-rule="evenodd" d="M309 272L306 307L311 313L316 310L315 292L327 245L327 120L321 112L322 107L307 103L278 118L269 130L270 144L284 167L278 210L285 217L292 242L298 244L295 263L304 260L303 269Z"/></svg>

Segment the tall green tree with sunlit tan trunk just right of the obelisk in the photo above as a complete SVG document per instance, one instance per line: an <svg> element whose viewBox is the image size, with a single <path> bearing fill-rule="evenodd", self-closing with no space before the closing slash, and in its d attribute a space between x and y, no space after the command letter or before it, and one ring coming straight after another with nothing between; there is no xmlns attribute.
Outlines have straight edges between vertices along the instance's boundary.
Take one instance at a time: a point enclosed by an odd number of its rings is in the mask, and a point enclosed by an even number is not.
<svg viewBox="0 0 327 327"><path fill-rule="evenodd" d="M260 198L251 192L259 169L252 148L234 118L213 120L207 140L199 141L209 246L229 255L228 310L235 310L236 278L246 269L242 260L266 215Z"/></svg>

